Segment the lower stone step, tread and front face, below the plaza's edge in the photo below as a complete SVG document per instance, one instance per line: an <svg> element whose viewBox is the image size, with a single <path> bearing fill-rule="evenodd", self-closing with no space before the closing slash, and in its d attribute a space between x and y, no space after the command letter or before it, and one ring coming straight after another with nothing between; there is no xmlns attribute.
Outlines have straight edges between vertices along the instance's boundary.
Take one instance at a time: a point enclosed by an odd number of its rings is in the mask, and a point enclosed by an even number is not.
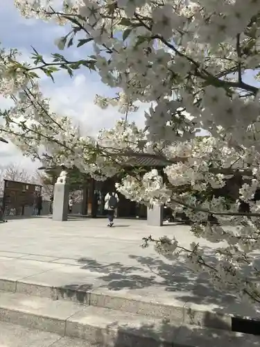
<svg viewBox="0 0 260 347"><path fill-rule="evenodd" d="M260 346L260 337L254 335L187 325L182 321L173 324L166 319L3 291L0 321L82 339L90 346L100 347Z"/></svg>

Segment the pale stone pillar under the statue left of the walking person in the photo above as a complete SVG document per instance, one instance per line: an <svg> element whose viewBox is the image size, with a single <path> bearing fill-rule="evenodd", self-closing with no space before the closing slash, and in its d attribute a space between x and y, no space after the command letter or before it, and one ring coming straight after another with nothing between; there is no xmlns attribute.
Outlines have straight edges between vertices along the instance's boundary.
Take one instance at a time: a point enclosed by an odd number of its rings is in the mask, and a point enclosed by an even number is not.
<svg viewBox="0 0 260 347"><path fill-rule="evenodd" d="M55 183L53 199L53 221L67 221L69 212L69 185Z"/></svg>

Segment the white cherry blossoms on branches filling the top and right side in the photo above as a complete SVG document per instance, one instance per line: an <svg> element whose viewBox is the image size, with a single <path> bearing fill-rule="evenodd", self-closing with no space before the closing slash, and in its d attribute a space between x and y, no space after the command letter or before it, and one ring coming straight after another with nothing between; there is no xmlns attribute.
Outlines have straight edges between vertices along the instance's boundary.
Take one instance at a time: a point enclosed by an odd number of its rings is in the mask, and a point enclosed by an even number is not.
<svg viewBox="0 0 260 347"><path fill-rule="evenodd" d="M216 267L205 264L196 243L183 250L164 237L155 242L157 251L168 257L185 251L189 264L207 271L214 285L260 301L259 287L243 275L246 264L256 276L251 253L260 248L260 1L15 0L15 6L24 17L67 24L67 38L56 41L60 49L73 36L70 44L81 40L93 54L76 65L61 56L54 66L40 60L28 67L2 52L0 93L15 105L2 113L1 133L12 134L27 155L44 148L53 160L102 180L121 168L122 157L112 151L153 153L165 163L164 173L129 174L119 191L183 212L194 235L225 243ZM88 67L113 87L114 97L96 96L102 108L115 105L128 115L149 103L146 130L121 121L96 139L81 137L70 119L49 112L37 88L33 97L47 115L34 105L21 117L31 96L19 91L31 90L37 68L55 78L57 65L71 75ZM210 137L196 138L198 128ZM140 148L140 141L147 145Z"/></svg>

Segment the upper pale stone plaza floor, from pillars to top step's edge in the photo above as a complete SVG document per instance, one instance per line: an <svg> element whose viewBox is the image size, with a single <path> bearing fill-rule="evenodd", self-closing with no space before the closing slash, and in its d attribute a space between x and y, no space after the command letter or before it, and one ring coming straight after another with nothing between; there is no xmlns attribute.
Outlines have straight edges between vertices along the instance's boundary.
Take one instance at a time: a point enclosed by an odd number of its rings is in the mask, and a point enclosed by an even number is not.
<svg viewBox="0 0 260 347"><path fill-rule="evenodd" d="M153 246L141 248L148 235L175 236L183 246L197 240L182 224L148 227L146 221L48 217L16 219L0 225L0 279L51 287L98 289L167 305L259 316L248 305L215 291L185 260L166 260ZM203 240L214 261L214 247Z"/></svg>

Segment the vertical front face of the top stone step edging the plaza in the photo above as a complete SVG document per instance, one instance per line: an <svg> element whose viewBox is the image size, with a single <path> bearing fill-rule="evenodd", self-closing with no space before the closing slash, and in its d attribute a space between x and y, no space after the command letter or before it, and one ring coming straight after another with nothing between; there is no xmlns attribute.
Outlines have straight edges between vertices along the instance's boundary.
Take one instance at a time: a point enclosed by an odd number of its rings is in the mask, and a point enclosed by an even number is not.
<svg viewBox="0 0 260 347"><path fill-rule="evenodd" d="M46 271L43 275L48 277L48 273L49 271ZM94 280L93 276L88 277L86 273L85 285L66 285L62 287L46 285L45 282L43 285L39 282L32 282L30 277L17 281L0 279L0 290L51 298L54 301L72 301L83 305L153 316L159 319L168 319L173 323L182 321L189 325L232 330L232 321L234 319L232 314L219 312L206 305L183 303L174 298L165 303L160 302L157 297L137 296L130 291L119 292L103 287L89 289L92 278ZM246 318L260 320L260 317L254 316L247 316Z"/></svg>

